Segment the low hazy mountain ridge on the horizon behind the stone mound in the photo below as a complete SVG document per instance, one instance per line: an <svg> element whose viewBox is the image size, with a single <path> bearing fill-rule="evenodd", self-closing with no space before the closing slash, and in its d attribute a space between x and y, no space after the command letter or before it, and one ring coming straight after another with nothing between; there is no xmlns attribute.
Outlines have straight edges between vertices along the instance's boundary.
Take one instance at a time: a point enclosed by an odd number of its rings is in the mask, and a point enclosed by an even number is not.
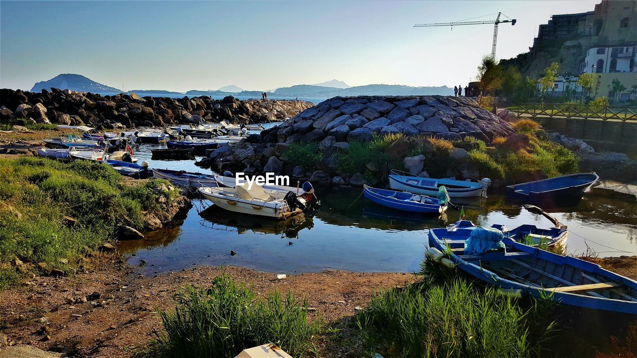
<svg viewBox="0 0 637 358"><path fill-rule="evenodd" d="M329 98L334 96L427 96L432 94L449 96L453 93L453 89L447 86L410 87L404 85L364 85L340 89L317 85L296 85L276 89L274 95L282 97Z"/></svg>

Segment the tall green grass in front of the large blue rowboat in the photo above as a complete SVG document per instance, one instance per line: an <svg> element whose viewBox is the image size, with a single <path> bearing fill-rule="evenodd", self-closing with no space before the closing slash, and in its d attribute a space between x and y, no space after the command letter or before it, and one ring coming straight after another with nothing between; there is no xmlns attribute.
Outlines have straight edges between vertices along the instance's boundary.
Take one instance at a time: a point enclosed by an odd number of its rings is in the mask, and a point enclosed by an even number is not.
<svg viewBox="0 0 637 358"><path fill-rule="evenodd" d="M431 266L425 263L424 266ZM428 268L403 289L379 291L356 317L365 345L384 357L542 357L554 333L538 304ZM431 271L429 271L431 270ZM431 276L436 277L431 277Z"/></svg>

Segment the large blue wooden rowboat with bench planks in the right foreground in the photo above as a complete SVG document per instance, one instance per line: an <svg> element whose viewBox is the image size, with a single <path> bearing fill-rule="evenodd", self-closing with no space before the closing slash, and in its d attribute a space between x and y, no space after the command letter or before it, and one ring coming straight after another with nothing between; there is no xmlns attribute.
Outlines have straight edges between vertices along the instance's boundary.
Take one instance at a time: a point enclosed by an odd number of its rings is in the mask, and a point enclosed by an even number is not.
<svg viewBox="0 0 637 358"><path fill-rule="evenodd" d="M595 310L637 313L637 282L591 262L506 237L502 240L505 251L465 255L465 242L475 228L471 222L464 222L429 230L427 256L520 294Z"/></svg>

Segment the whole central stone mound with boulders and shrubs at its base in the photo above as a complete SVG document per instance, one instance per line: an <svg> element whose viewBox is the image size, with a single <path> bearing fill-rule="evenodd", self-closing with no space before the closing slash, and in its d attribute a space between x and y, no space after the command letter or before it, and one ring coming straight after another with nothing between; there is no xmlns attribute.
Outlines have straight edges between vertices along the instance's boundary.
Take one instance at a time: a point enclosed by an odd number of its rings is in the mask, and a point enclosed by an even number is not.
<svg viewBox="0 0 637 358"><path fill-rule="evenodd" d="M471 141L484 147L515 135L511 124L464 97L334 97L199 165L335 185L382 181L388 169L476 179L483 173L468 160ZM378 145L364 147L372 141Z"/></svg>

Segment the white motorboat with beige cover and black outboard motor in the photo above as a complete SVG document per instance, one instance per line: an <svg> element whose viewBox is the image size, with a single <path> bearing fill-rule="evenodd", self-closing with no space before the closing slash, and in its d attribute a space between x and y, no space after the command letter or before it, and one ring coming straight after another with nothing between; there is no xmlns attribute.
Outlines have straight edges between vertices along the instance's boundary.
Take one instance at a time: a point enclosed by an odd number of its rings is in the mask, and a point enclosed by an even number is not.
<svg viewBox="0 0 637 358"><path fill-rule="evenodd" d="M259 185L240 185L234 188L201 187L199 194L219 208L283 220L303 212L304 200L294 193L282 194L278 190L265 190Z"/></svg>

